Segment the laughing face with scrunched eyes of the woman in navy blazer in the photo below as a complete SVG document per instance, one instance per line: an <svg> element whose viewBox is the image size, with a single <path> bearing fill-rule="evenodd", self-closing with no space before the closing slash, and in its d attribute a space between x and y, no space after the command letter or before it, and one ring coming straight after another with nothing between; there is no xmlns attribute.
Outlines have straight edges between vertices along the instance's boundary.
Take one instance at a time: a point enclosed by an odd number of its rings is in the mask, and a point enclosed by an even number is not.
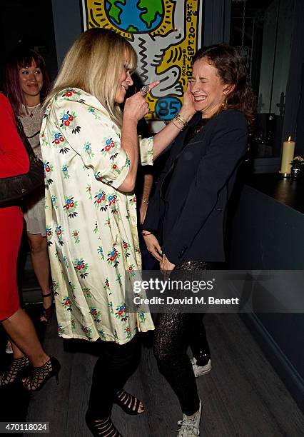
<svg viewBox="0 0 304 437"><path fill-rule="evenodd" d="M221 107L228 94L229 86L223 84L218 70L208 63L206 58L198 59L193 64L191 93L194 98L194 108L201 111L203 118L210 118Z"/></svg>

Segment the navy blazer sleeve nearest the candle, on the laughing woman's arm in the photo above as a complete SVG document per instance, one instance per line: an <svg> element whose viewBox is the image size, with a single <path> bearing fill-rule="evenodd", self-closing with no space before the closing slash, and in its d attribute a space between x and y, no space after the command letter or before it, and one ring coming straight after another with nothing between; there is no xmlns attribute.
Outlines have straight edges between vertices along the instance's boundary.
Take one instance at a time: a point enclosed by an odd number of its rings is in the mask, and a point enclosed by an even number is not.
<svg viewBox="0 0 304 437"><path fill-rule="evenodd" d="M163 252L168 261L181 263L196 234L201 230L218 200L218 193L227 183L235 167L245 156L247 123L238 112L222 114L208 151L201 159L196 181L191 185L181 215L170 235L164 236ZM193 208L200 199L201 206ZM191 226L185 226L185 223Z"/></svg>

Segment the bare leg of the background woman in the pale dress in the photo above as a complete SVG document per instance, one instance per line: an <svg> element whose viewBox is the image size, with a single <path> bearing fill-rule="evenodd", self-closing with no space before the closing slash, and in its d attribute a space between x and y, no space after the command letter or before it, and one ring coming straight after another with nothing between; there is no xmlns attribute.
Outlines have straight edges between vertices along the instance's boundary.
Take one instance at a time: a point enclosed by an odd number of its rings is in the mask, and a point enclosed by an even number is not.
<svg viewBox="0 0 304 437"><path fill-rule="evenodd" d="M50 265L46 237L41 236L40 233L33 234L28 232L27 235L31 250L31 262L37 281L41 287L42 296L44 296L51 293L49 286ZM52 301L52 296L45 297L43 303L44 308L49 308ZM42 317L41 321L46 321L46 318Z"/></svg>

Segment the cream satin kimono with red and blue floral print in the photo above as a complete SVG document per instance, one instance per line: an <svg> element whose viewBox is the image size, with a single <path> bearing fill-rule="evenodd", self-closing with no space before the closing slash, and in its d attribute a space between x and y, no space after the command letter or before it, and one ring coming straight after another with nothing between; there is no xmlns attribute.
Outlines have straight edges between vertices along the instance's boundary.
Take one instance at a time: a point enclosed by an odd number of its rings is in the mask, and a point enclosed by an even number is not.
<svg viewBox="0 0 304 437"><path fill-rule="evenodd" d="M136 198L117 190L130 166L121 131L91 94L64 89L46 108L41 151L59 336L127 343L154 326L126 310L126 271L141 269L141 253ZM140 152L152 164L153 139Z"/></svg>

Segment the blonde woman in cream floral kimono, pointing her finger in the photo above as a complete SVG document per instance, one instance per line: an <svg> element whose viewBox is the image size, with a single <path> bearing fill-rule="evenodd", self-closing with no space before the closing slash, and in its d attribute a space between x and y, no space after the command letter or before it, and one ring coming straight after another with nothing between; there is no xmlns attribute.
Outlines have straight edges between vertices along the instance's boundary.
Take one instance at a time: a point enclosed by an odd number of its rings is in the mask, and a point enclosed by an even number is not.
<svg viewBox="0 0 304 437"><path fill-rule="evenodd" d="M41 150L46 171L46 231L59 322L65 338L101 339L86 423L93 435L121 436L111 422L143 404L123 390L138 362L138 331L154 328L148 313L128 313L125 273L141 268L133 194L138 160L153 159L180 132L169 124L138 153L137 124L148 112L147 91L119 104L133 84L136 53L118 34L90 29L66 55L46 99ZM181 117L193 115L185 95Z"/></svg>

